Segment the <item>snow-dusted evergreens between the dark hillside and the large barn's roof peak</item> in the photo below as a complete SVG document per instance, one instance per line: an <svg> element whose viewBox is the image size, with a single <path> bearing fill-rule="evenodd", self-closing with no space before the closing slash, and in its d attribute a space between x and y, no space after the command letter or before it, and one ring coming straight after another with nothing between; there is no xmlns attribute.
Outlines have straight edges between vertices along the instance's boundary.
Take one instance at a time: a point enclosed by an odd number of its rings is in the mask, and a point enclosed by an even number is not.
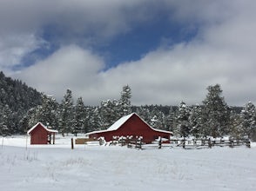
<svg viewBox="0 0 256 191"><path fill-rule="evenodd" d="M126 85L118 100L107 100L99 106L85 106L82 97L74 102L71 89L67 89L58 104L53 96L43 95L42 105L30 109L24 120L27 127L43 122L57 128L63 135L87 133L111 126L120 117L131 113L131 88Z"/></svg>

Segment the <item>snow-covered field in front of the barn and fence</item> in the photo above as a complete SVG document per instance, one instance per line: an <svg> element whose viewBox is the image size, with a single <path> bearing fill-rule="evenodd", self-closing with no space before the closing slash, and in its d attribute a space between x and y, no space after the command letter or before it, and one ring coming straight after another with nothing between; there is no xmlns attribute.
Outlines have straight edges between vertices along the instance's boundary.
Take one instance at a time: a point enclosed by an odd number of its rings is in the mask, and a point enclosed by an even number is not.
<svg viewBox="0 0 256 191"><path fill-rule="evenodd" d="M2 143L2 138L0 139ZM5 138L0 190L256 190L252 148L147 148L75 145L28 146Z"/></svg>

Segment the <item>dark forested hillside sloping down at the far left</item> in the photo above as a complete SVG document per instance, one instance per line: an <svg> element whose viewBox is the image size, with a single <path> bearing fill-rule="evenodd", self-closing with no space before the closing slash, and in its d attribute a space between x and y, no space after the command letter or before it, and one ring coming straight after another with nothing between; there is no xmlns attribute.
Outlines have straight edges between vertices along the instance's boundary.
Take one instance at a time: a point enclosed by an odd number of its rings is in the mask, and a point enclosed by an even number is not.
<svg viewBox="0 0 256 191"><path fill-rule="evenodd" d="M27 111L41 104L41 94L24 82L0 72L0 133L24 133L22 120ZM10 132L11 130L11 132Z"/></svg>

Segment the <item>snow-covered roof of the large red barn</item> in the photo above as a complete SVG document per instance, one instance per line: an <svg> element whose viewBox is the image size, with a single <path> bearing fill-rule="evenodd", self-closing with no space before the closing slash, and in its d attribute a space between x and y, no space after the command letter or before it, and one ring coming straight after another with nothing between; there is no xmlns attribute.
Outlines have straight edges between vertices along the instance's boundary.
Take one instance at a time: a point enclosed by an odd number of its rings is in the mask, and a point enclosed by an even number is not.
<svg viewBox="0 0 256 191"><path fill-rule="evenodd" d="M125 116L121 117L117 122L112 124L110 128L107 128L105 130L92 131L90 133L87 133L86 135L118 130L118 128L120 128L128 119L130 119L130 117L132 115L137 115L139 119L141 119L143 122L145 122L138 114L131 113L130 115L125 115ZM152 128L147 122L145 122L145 123L149 126L149 128ZM160 129L157 129L157 128L152 128L152 130L162 132L162 133L166 133L166 134L172 134L172 132L170 132L170 131L160 130Z"/></svg>

